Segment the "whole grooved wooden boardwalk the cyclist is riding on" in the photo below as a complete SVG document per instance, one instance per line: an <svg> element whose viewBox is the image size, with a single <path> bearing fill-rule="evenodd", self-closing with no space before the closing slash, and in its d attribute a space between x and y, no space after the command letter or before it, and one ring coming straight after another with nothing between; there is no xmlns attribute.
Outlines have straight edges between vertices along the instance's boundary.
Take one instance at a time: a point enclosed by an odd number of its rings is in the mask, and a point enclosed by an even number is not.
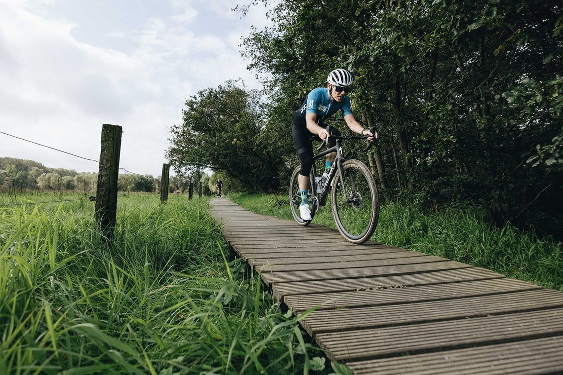
<svg viewBox="0 0 563 375"><path fill-rule="evenodd" d="M563 373L563 293L213 198L227 241L355 374ZM377 237L377 230L374 237Z"/></svg>

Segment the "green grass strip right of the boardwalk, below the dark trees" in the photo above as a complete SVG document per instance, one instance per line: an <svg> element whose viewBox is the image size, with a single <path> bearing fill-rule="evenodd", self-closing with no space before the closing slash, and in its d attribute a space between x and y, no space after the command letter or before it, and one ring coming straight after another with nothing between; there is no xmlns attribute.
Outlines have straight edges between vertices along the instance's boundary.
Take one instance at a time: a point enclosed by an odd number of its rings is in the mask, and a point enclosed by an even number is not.
<svg viewBox="0 0 563 375"><path fill-rule="evenodd" d="M285 195L230 195L236 203L264 215L293 220ZM330 205L321 207L314 222L336 228ZM381 206L372 240L488 268L507 277L563 291L563 244L510 224L493 228L477 211L468 209L423 213L415 206Z"/></svg>

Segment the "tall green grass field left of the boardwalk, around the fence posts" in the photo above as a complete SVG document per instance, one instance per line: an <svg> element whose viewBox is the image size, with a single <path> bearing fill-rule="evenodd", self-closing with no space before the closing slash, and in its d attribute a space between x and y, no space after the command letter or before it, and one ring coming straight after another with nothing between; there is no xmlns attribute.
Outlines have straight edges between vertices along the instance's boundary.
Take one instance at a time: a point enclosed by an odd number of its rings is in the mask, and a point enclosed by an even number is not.
<svg viewBox="0 0 563 375"><path fill-rule="evenodd" d="M208 199L0 196L0 374L341 373L229 253ZM48 203L41 203L47 202Z"/></svg>

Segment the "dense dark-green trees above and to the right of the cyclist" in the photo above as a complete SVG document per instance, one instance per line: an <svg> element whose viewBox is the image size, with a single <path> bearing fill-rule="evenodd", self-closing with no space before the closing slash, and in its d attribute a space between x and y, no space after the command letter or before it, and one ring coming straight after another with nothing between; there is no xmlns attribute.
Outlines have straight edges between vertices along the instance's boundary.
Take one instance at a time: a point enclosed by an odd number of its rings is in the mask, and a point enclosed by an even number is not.
<svg viewBox="0 0 563 375"><path fill-rule="evenodd" d="M364 158L384 198L479 206L499 226L562 238L561 10L554 0L279 2L243 54L288 118L328 71L352 71L353 109L380 134Z"/></svg>

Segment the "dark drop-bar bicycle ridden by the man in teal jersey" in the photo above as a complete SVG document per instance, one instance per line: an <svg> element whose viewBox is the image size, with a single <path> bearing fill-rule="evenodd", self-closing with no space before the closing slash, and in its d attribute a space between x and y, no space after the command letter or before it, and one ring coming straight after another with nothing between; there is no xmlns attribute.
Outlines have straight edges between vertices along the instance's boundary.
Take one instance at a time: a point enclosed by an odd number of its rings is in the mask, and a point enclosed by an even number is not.
<svg viewBox="0 0 563 375"><path fill-rule="evenodd" d="M330 126L327 126L327 130L330 133L329 128ZM374 134L375 128L370 129L370 131ZM328 178L324 181L321 180L320 175L317 175L315 162L313 162L311 173L309 174L311 189L307 191L311 220L301 219L299 211L301 192L298 175L301 166L297 166L293 171L291 181L289 182L291 212L299 225L309 225L319 207L327 204L328 194L332 192L330 203L338 231L348 242L360 245L368 241L376 230L379 219L379 197L372 173L363 162L344 157L342 141L366 139L368 137L364 135L361 137L356 135L330 135L330 137L336 138L336 146L313 156L313 161L315 161L336 151L336 159L330 168ZM327 144L327 141L328 138L323 141L316 152L319 152ZM372 142L369 142L368 147L363 152L367 152L371 147Z"/></svg>

